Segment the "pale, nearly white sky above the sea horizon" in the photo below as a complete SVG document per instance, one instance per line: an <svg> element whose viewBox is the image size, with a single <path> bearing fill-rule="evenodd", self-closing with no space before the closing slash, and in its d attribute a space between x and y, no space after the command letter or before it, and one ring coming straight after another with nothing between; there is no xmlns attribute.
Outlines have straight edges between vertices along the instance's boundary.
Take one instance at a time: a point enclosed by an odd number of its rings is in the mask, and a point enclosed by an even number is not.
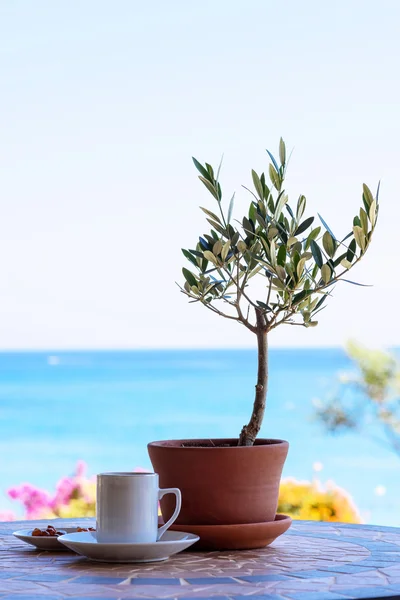
<svg viewBox="0 0 400 600"><path fill-rule="evenodd" d="M339 236L381 183L373 243L313 329L272 346L400 343L397 0L2 0L0 349L247 347L175 284L214 210L280 136Z"/></svg>

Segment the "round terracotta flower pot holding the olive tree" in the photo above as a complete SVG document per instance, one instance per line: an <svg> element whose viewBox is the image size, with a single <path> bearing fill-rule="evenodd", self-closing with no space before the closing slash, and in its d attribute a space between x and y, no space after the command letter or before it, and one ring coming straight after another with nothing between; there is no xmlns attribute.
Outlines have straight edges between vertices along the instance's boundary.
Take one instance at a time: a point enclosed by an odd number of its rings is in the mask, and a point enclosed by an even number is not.
<svg viewBox="0 0 400 600"><path fill-rule="evenodd" d="M267 439L251 447L237 446L235 439L148 444L160 488L177 487L182 492L177 525L274 521L288 448L288 442ZM162 499L164 520L172 515L174 502L171 495Z"/></svg>

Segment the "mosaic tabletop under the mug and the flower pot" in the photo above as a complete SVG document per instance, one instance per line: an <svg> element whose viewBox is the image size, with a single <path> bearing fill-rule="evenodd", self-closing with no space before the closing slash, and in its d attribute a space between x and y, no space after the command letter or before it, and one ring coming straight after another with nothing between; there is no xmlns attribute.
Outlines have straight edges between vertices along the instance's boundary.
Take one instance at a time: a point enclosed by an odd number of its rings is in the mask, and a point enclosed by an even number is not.
<svg viewBox="0 0 400 600"><path fill-rule="evenodd" d="M400 529L294 521L271 546L183 552L166 562L103 564L35 550L16 529L90 519L0 523L0 600L400 599Z"/></svg>

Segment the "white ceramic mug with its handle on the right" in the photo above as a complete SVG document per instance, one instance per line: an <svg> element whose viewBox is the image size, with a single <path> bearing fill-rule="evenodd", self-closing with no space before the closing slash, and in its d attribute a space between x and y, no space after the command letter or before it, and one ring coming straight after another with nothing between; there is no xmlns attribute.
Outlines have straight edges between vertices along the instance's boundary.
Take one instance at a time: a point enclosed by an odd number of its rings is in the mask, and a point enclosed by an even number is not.
<svg viewBox="0 0 400 600"><path fill-rule="evenodd" d="M175 494L170 520L158 527L158 501ZM177 488L160 490L157 473L100 473L97 475L96 539L101 543L152 543L176 520L181 510Z"/></svg>

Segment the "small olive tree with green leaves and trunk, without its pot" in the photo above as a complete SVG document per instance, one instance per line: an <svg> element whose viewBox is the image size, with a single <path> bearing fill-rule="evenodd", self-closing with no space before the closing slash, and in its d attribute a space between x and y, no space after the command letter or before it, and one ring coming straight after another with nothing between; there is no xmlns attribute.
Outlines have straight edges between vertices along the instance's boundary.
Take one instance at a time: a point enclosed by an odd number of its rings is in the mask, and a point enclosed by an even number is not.
<svg viewBox="0 0 400 600"><path fill-rule="evenodd" d="M305 216L306 197L289 203L284 189L287 159L283 140L279 160L267 150L268 176L252 170L253 190L247 214L233 220L234 195L223 207L220 167L193 158L199 179L215 208L201 207L211 229L192 249L182 249L191 263L183 268L181 291L191 302L236 321L257 338L258 374L253 411L238 444L254 444L262 424L268 382L268 334L280 325L315 327L316 315L332 286L364 256L378 216L379 186L374 197L363 185L362 206L350 231L340 238L318 215ZM269 179L269 180L268 180ZM243 186L244 187L244 186ZM258 280L260 285L254 286ZM353 282L350 282L353 283Z"/></svg>

